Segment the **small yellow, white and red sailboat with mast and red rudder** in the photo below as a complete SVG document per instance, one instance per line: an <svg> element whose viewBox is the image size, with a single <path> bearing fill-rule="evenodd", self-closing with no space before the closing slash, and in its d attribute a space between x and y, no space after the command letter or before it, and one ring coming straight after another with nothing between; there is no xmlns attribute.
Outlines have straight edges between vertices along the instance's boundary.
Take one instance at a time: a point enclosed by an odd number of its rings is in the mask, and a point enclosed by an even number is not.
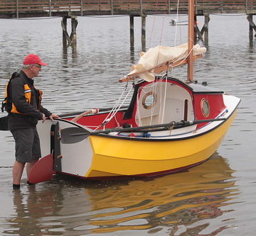
<svg viewBox="0 0 256 236"><path fill-rule="evenodd" d="M193 167L215 153L240 99L193 79L193 61L206 52L193 45L193 1L188 1L188 16L188 43L142 53L119 80L127 84L113 108L38 123L46 157L31 170L31 183L56 172L85 179L154 176ZM182 64L188 64L185 81L168 76ZM122 106L129 91L129 106Z"/></svg>

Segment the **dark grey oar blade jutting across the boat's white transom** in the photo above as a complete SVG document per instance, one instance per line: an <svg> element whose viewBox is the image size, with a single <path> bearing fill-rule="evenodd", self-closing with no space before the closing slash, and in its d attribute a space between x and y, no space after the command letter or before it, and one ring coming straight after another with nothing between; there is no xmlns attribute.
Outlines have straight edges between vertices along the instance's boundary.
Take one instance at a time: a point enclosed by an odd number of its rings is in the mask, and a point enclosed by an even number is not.
<svg viewBox="0 0 256 236"><path fill-rule="evenodd" d="M89 130L79 127L70 127L60 130L61 142L63 144L73 144L85 140L90 135Z"/></svg>

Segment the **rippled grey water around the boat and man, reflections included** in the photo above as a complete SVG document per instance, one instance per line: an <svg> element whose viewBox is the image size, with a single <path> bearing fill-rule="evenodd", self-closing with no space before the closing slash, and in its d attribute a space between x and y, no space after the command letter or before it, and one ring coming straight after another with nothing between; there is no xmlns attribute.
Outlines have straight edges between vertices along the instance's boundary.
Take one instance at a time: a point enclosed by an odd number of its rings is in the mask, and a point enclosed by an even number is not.
<svg viewBox="0 0 256 236"><path fill-rule="evenodd" d="M146 18L146 47L174 45L171 18ZM55 176L26 186L24 175L21 190L13 191L14 142L1 131L0 235L255 235L256 39L249 41L246 16L210 18L208 52L196 62L195 79L242 99L218 153L187 172L152 179L97 183ZM132 51L127 16L78 18L76 51L63 50L60 20L0 19L1 97L9 74L35 53L48 63L36 84L50 111L112 106L124 87L117 80L139 59L140 18ZM203 18L198 22L201 27ZM186 27L176 35L184 43ZM182 79L184 72L173 74Z"/></svg>

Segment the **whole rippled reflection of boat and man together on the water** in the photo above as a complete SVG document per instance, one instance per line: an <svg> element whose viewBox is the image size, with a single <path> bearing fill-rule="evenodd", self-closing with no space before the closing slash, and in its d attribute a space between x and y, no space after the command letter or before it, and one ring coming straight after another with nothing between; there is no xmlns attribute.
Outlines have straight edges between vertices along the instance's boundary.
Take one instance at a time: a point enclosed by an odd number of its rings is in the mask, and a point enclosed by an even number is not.
<svg viewBox="0 0 256 236"><path fill-rule="evenodd" d="M233 170L218 154L187 172L154 179L97 183L56 176L53 181L14 191L6 235L85 235L145 230L198 235L206 220L228 210L238 194ZM232 208L230 208L232 209ZM225 230L218 225L213 232ZM181 230L182 229L182 230ZM136 231L135 231L136 232ZM109 234L108 234L109 235Z"/></svg>

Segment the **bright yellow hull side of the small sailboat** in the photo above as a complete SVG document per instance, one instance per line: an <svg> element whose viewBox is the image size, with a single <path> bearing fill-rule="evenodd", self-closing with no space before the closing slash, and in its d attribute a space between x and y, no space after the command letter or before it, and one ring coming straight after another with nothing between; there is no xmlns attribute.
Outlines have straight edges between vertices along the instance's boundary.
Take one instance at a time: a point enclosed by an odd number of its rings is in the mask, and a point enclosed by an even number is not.
<svg viewBox="0 0 256 236"><path fill-rule="evenodd" d="M206 161L219 147L235 113L203 135L181 140L124 140L90 135L92 164L85 177L154 175Z"/></svg>

